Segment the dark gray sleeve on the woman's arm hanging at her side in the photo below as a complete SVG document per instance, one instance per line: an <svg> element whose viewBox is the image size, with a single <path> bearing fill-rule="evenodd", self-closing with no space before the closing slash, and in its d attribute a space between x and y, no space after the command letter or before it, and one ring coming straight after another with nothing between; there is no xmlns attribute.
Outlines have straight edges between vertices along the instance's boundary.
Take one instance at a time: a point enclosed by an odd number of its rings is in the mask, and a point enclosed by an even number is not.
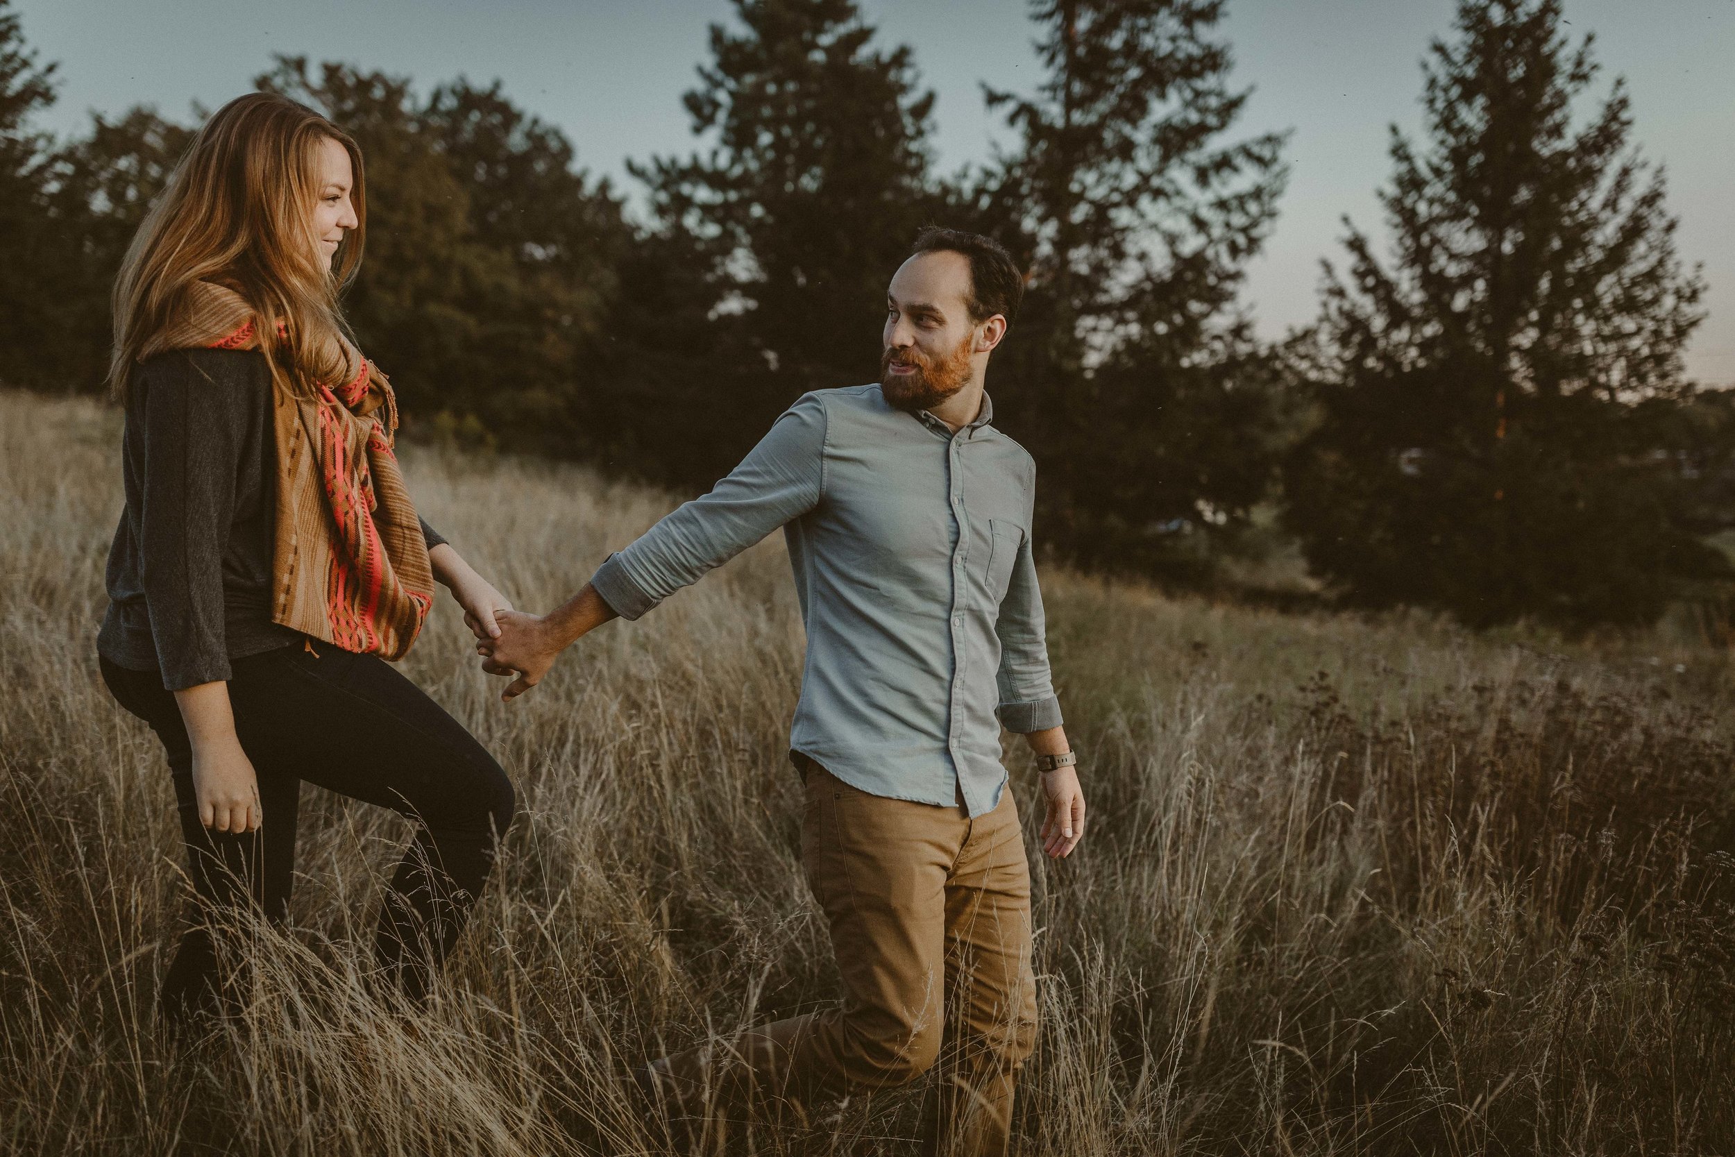
<svg viewBox="0 0 1735 1157"><path fill-rule="evenodd" d="M139 585L163 687L182 690L229 678L222 553L246 411L238 390L213 390L189 364L144 389Z"/></svg>

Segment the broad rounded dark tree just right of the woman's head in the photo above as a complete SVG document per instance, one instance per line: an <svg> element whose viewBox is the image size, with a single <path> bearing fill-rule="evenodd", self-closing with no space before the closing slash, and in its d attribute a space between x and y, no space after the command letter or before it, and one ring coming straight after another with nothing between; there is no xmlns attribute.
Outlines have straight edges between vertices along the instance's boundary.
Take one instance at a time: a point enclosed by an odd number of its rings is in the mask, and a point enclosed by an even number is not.
<svg viewBox="0 0 1735 1157"><path fill-rule="evenodd" d="M628 238L571 142L498 85L429 99L406 78L283 57L259 78L361 146L368 257L345 312L406 413L520 449L588 449L573 413Z"/></svg>

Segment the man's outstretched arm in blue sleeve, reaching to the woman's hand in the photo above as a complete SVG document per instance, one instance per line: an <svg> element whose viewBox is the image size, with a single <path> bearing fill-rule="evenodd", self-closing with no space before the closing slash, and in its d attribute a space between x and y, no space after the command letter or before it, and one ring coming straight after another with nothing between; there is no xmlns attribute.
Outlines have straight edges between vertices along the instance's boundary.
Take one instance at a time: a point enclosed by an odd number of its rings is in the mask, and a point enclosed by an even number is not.
<svg viewBox="0 0 1735 1157"><path fill-rule="evenodd" d="M547 618L501 612L500 637L481 640L489 675L517 675L503 699L541 682L559 654L612 618L637 619L713 567L760 541L821 498L826 446L824 402L809 394L710 494L652 526L609 555L590 583Z"/></svg>

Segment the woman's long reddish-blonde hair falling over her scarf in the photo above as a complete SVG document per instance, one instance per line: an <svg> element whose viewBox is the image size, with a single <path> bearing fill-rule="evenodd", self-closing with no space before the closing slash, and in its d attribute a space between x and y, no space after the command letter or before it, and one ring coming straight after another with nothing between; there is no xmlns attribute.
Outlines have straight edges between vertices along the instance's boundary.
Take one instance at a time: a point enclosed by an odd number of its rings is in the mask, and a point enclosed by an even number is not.
<svg viewBox="0 0 1735 1157"><path fill-rule="evenodd" d="M330 267L314 236L324 141L349 151L357 222ZM366 226L361 149L349 135L288 97L236 97L200 128L127 248L115 279L109 385L125 395L141 352L186 309L196 281L224 284L253 307L274 378L297 392L338 382L349 371L349 330L337 298L361 265Z"/></svg>

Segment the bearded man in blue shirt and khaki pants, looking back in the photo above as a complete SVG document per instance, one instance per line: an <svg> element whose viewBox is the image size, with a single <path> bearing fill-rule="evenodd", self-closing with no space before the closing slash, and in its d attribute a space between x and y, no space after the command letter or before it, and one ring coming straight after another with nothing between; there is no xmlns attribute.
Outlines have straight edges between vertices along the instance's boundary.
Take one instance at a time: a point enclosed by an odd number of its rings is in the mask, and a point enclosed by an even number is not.
<svg viewBox="0 0 1735 1157"><path fill-rule="evenodd" d="M802 862L845 999L750 1032L727 1065L708 1049L652 1062L658 1096L890 1088L939 1060L932 1148L1006 1152L1036 987L999 723L1038 756L1044 852L1069 855L1084 834L1032 562L1036 468L991 425L984 392L1022 293L998 243L925 229L892 278L880 385L802 397L578 597L543 619L503 612L479 647L486 670L517 675L510 699L592 628L637 619L784 529L807 624L789 739L809 794Z"/></svg>

